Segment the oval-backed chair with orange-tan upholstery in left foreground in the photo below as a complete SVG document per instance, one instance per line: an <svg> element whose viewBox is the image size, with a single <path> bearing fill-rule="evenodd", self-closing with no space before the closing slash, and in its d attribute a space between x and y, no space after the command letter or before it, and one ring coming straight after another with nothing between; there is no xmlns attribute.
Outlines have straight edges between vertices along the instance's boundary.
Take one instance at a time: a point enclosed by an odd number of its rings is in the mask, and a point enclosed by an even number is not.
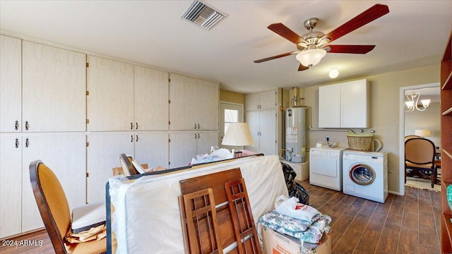
<svg viewBox="0 0 452 254"><path fill-rule="evenodd" d="M61 183L54 172L40 160L31 162L29 169L37 207L55 253L68 253L64 236L71 229L71 210ZM106 253L107 239L72 243L70 247L73 254Z"/></svg>

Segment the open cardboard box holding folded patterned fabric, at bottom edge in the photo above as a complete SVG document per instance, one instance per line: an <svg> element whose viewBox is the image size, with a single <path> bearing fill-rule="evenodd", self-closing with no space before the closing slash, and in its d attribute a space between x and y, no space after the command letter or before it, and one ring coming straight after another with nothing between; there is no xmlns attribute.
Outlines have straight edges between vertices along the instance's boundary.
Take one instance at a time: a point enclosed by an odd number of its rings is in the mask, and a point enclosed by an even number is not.
<svg viewBox="0 0 452 254"><path fill-rule="evenodd" d="M300 248L299 239L263 226L262 241L266 254L331 254L331 236L327 234L323 234L321 244L304 243Z"/></svg>

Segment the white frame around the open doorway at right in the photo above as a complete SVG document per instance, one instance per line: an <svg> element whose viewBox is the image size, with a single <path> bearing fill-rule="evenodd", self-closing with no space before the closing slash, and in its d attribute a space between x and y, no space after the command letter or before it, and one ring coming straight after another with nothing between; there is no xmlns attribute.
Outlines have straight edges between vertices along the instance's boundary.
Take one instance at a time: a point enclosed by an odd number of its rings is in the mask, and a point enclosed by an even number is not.
<svg viewBox="0 0 452 254"><path fill-rule="evenodd" d="M405 91L406 90L417 90L421 88L432 88L438 87L439 82L428 83L422 85L410 85L399 88L399 194L405 195Z"/></svg>

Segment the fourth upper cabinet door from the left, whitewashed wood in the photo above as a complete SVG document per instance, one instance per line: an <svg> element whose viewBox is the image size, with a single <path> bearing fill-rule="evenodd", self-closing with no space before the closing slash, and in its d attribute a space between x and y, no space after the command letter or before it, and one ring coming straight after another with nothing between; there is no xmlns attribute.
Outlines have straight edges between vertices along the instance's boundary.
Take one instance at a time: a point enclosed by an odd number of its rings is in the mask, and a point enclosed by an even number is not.
<svg viewBox="0 0 452 254"><path fill-rule="evenodd" d="M134 66L135 130L168 130L169 73Z"/></svg>

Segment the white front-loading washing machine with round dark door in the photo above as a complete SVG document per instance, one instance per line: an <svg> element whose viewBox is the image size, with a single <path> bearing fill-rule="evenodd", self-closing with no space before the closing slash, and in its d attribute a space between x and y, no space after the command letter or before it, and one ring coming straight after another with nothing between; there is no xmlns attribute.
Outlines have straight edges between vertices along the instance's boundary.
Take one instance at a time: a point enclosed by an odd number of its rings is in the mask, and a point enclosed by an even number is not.
<svg viewBox="0 0 452 254"><path fill-rule="evenodd" d="M386 152L343 152L343 192L382 202L388 197Z"/></svg>

